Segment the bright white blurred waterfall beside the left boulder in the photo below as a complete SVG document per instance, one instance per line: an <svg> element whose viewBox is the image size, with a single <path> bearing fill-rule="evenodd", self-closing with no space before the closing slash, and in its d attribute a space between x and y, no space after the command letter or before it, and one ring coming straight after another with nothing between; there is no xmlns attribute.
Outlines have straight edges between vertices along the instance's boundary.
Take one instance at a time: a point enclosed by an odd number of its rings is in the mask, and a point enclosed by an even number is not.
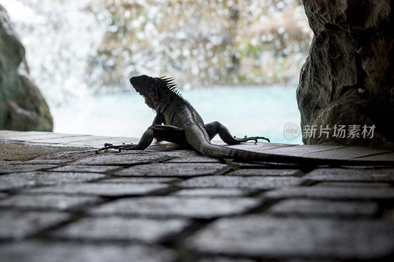
<svg viewBox="0 0 394 262"><path fill-rule="evenodd" d="M87 92L86 67L106 32L90 0L0 0L26 49L30 74L50 108Z"/></svg>

